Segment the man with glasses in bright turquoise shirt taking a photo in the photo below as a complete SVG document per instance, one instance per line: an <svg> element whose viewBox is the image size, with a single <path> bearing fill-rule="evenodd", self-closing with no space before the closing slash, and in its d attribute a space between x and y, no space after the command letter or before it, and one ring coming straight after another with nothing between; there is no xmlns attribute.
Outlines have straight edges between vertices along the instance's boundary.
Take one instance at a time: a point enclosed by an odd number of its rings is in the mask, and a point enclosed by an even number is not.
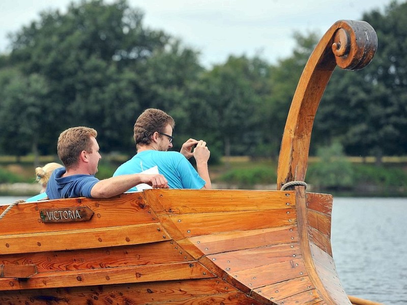
<svg viewBox="0 0 407 305"><path fill-rule="evenodd" d="M147 109L137 118L134 125L134 141L137 154L114 172L113 177L140 173L158 168L168 181L170 189L211 189L208 171L210 151L203 140L189 139L181 152L167 151L172 147L173 118L159 109ZM196 147L192 148L196 145ZM196 168L188 159L194 157ZM131 188L129 191L135 191Z"/></svg>

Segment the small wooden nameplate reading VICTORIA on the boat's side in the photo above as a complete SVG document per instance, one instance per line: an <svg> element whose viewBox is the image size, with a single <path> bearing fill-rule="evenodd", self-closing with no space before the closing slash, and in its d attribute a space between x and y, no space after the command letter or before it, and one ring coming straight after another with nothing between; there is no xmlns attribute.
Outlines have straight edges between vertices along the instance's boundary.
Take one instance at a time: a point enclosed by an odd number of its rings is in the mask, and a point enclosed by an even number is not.
<svg viewBox="0 0 407 305"><path fill-rule="evenodd" d="M44 223L66 223L90 220L93 210L86 206L43 208L40 217Z"/></svg>

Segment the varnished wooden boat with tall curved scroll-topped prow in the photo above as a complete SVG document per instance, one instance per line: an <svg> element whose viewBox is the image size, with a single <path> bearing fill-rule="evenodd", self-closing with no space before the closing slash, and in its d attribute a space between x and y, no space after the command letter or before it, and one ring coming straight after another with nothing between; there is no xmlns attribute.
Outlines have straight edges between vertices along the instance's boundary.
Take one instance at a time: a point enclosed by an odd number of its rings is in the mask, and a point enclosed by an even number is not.
<svg viewBox="0 0 407 305"><path fill-rule="evenodd" d="M332 196L302 181L334 68L362 69L376 45L368 23L338 21L316 46L284 130L282 190L155 189L0 207L0 303L351 304L332 258Z"/></svg>

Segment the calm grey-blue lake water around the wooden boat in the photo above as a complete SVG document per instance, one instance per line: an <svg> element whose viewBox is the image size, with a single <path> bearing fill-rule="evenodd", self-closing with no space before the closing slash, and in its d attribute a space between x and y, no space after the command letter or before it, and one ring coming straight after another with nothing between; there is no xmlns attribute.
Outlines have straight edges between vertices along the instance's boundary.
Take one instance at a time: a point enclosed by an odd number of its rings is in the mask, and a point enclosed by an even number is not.
<svg viewBox="0 0 407 305"><path fill-rule="evenodd" d="M407 304L406 216L407 198L334 198L332 252L348 295Z"/></svg>

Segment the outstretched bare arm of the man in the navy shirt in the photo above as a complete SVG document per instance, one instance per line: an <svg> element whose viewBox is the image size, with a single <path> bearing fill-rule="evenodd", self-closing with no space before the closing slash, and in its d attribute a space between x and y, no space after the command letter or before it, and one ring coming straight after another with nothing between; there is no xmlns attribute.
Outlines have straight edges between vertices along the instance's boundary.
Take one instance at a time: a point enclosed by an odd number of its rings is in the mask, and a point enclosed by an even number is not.
<svg viewBox="0 0 407 305"><path fill-rule="evenodd" d="M103 179L97 182L91 190L92 198L110 198L122 194L141 183L148 184L153 189L168 189L167 179L160 174L130 174Z"/></svg>

